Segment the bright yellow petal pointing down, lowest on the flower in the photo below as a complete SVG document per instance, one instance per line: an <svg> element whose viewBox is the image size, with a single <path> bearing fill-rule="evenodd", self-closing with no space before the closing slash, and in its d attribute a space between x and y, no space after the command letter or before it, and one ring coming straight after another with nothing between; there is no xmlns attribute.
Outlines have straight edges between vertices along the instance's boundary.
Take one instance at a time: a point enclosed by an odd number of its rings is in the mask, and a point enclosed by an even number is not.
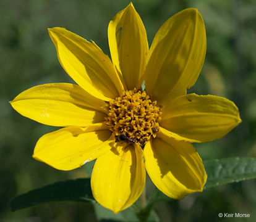
<svg viewBox="0 0 256 222"><path fill-rule="evenodd" d="M91 186L99 204L114 213L134 204L145 185L142 155L140 147L116 143L113 149L97 158Z"/></svg>

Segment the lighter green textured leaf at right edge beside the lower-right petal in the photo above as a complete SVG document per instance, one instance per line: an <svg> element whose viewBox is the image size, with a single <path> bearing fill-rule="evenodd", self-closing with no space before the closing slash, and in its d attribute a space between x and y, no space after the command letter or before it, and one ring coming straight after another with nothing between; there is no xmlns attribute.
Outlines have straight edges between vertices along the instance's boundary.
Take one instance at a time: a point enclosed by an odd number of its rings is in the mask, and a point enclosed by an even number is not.
<svg viewBox="0 0 256 222"><path fill-rule="evenodd" d="M256 158L233 157L203 162L208 178L205 189L256 178Z"/></svg>

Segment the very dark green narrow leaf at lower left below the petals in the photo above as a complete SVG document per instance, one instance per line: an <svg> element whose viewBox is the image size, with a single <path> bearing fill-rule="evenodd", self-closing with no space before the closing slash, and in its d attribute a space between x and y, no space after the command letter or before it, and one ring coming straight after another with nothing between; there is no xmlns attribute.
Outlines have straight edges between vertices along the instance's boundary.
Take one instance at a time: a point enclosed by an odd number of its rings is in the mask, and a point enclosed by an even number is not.
<svg viewBox="0 0 256 222"><path fill-rule="evenodd" d="M93 199L90 178L67 180L50 184L40 189L29 191L19 195L9 203L11 210L19 210L36 204L50 201L71 200L79 202L90 202Z"/></svg>

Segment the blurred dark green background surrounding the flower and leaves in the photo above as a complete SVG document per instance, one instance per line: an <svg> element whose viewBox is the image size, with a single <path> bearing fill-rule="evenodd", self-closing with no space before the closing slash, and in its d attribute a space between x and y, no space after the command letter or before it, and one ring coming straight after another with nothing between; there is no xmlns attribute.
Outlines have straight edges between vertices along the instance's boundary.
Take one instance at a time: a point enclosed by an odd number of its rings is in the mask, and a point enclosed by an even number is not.
<svg viewBox="0 0 256 222"><path fill-rule="evenodd" d="M0 221L98 221L92 204L53 202L11 212L7 202L46 184L83 178L92 165L58 171L32 158L40 136L56 130L15 112L8 101L37 84L72 82L62 70L47 28L65 27L93 39L109 54L107 28L129 0L0 1ZM234 101L242 123L223 139L194 144L203 160L256 157L256 1L134 0L148 43L165 20L196 7L207 30L207 57L189 92L215 94ZM155 205L160 221L225 221L218 213L250 213L256 221L256 181L207 189L183 200ZM150 194L149 194L150 195ZM111 220L101 220L111 221ZM241 221L231 218L228 221ZM243 220L242 220L243 221Z"/></svg>

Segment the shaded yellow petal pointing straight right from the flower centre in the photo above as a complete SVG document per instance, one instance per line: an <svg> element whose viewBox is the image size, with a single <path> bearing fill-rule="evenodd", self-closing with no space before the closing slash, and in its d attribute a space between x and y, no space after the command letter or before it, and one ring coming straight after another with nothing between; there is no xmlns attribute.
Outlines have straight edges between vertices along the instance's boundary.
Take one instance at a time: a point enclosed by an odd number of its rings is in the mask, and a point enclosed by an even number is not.
<svg viewBox="0 0 256 222"><path fill-rule="evenodd" d="M163 108L160 126L179 140L207 142L222 138L241 123L236 105L219 96L187 94Z"/></svg>

